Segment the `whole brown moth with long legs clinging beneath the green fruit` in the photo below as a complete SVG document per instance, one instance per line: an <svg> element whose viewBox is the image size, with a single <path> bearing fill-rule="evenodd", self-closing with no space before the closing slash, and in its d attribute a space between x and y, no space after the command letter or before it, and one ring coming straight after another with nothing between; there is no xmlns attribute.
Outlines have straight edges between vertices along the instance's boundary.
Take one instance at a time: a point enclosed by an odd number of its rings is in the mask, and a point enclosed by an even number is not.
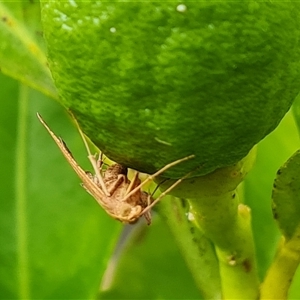
<svg viewBox="0 0 300 300"><path fill-rule="evenodd" d="M130 181L127 177L127 168L120 164L113 164L106 170L103 170L102 154L99 154L98 159L95 155L91 154L86 138L74 118L79 133L87 149L88 158L93 166L95 172L95 175L93 175L90 172L84 171L77 164L66 143L52 132L39 114L37 114L37 116L40 122L50 133L51 137L54 139L66 160L81 179L84 189L95 198L95 200L110 216L121 222L133 223L141 216L144 216L149 225L151 223L151 207L160 201L183 179L190 175L190 173L188 173L184 177L175 181L174 184L172 184L167 190L161 193L157 199L154 200L152 195L142 191L141 188L167 169L193 158L194 155L190 155L167 164L155 174L149 175L143 182L141 182L139 179L139 173L135 172L133 179Z"/></svg>

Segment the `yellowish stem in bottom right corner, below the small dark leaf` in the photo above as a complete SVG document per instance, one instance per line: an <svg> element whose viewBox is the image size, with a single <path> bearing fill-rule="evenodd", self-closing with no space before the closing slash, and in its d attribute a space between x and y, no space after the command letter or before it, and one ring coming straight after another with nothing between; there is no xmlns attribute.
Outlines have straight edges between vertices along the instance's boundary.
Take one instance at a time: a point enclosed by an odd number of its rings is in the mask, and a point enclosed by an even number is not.
<svg viewBox="0 0 300 300"><path fill-rule="evenodd" d="M261 286L261 299L287 299L300 263L300 228L290 240L282 237L275 259Z"/></svg>

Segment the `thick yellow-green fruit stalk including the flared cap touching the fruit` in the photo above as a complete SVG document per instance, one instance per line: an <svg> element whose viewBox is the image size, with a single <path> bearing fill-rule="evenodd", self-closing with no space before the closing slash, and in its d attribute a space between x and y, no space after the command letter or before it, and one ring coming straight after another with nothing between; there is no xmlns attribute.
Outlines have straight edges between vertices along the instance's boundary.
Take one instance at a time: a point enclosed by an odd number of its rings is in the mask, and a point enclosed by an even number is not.
<svg viewBox="0 0 300 300"><path fill-rule="evenodd" d="M194 224L215 244L223 299L259 296L250 209L239 203L236 192L254 160L253 150L236 165L186 179L171 192L188 200Z"/></svg>

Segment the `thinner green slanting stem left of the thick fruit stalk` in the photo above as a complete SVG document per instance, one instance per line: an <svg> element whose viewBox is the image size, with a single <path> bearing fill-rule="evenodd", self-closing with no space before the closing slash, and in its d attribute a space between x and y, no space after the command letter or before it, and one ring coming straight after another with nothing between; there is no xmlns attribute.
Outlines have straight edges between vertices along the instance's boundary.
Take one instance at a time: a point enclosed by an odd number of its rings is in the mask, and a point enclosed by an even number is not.
<svg viewBox="0 0 300 300"><path fill-rule="evenodd" d="M219 267L213 245L188 220L187 203L175 197L168 198L160 203L159 213L173 233L201 295L204 299L220 299Z"/></svg>

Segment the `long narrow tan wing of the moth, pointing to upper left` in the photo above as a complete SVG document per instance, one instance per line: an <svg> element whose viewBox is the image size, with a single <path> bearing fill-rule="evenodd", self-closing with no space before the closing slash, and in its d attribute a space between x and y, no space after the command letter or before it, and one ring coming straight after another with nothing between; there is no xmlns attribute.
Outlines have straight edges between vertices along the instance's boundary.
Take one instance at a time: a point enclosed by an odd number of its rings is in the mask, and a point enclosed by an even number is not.
<svg viewBox="0 0 300 300"><path fill-rule="evenodd" d="M46 122L43 120L40 114L37 114L40 122L44 125L44 127L47 129L57 146L59 147L60 151L68 161L68 163L71 165L73 170L76 172L78 177L81 179L83 183L83 187L95 198L95 200L102 206L105 211L111 215L112 217L116 217L115 215L111 214L109 212L109 203L106 203L105 199L107 197L101 190L101 188L86 174L86 172L78 165L78 163L75 161L71 151L68 149L66 143L61 139L58 138L54 132L49 128L49 126L46 124Z"/></svg>

